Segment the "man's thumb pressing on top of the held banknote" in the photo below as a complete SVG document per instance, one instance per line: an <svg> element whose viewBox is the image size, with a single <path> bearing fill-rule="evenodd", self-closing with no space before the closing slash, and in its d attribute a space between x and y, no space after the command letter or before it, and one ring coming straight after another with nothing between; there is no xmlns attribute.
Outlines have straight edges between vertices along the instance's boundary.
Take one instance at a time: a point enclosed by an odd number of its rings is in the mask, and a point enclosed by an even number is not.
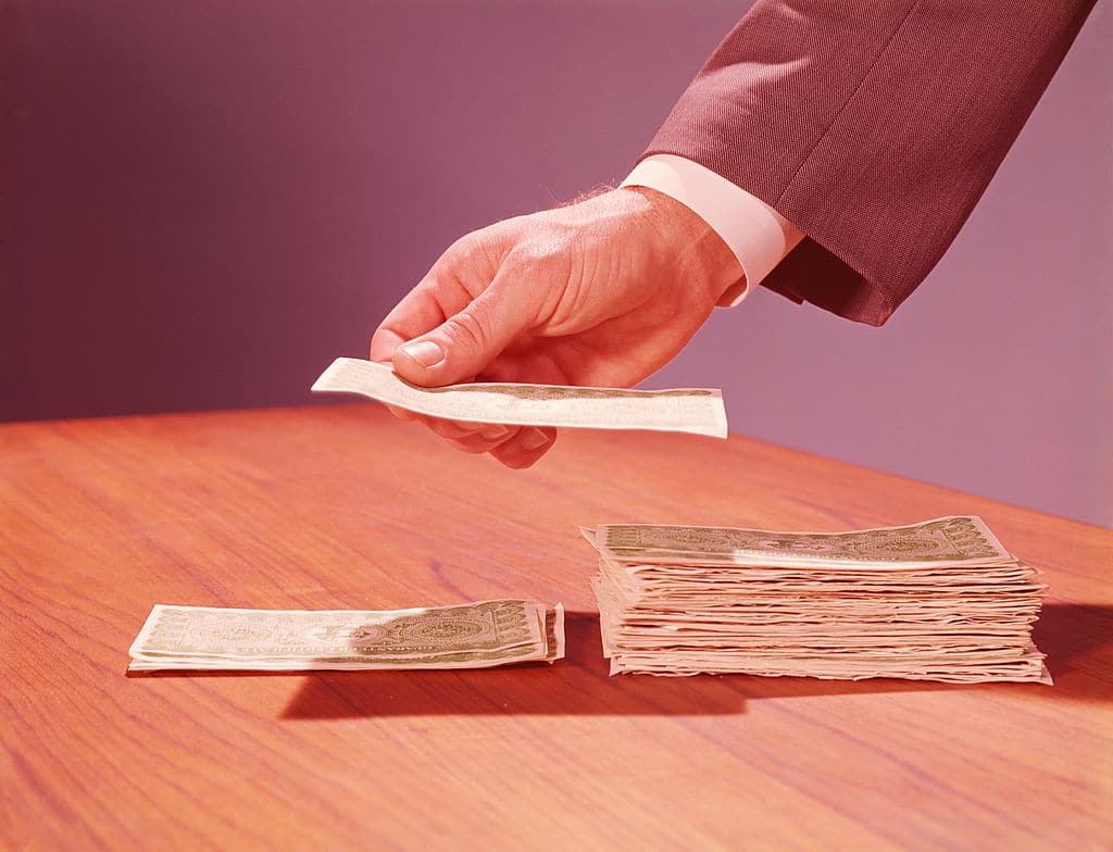
<svg viewBox="0 0 1113 852"><path fill-rule="evenodd" d="M394 371L414 385L470 382L532 324L508 288L492 286L432 331L394 350ZM512 291L512 289L511 289Z"/></svg>

